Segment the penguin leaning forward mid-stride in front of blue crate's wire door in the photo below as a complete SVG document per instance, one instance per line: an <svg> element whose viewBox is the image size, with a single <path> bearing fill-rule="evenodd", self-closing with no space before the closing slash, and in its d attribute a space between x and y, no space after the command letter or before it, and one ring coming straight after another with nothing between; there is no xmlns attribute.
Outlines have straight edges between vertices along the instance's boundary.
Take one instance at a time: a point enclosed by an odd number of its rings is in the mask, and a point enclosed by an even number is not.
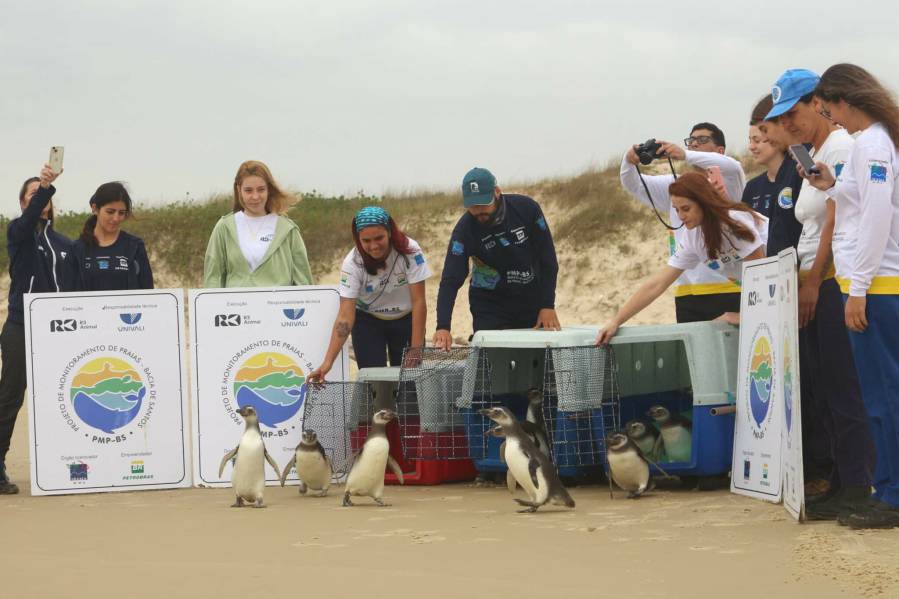
<svg viewBox="0 0 899 599"><path fill-rule="evenodd" d="M509 472L529 497L527 501L515 498L519 505L525 506L525 509L519 511L536 512L547 502L573 508L574 499L562 486L555 466L537 449L512 412L505 407L496 407L480 410L480 414L502 427L502 433L506 437L506 464Z"/></svg>

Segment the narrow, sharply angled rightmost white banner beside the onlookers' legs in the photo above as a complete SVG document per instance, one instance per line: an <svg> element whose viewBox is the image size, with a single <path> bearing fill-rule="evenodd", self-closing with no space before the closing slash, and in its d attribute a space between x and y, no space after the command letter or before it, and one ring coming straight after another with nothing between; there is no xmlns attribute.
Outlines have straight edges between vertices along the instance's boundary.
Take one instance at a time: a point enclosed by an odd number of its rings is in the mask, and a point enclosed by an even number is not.
<svg viewBox="0 0 899 599"><path fill-rule="evenodd" d="M796 253L790 248L778 255L780 301L780 373L784 406L783 500L796 520L804 518L805 479L802 473L802 409L799 398L799 286Z"/></svg>

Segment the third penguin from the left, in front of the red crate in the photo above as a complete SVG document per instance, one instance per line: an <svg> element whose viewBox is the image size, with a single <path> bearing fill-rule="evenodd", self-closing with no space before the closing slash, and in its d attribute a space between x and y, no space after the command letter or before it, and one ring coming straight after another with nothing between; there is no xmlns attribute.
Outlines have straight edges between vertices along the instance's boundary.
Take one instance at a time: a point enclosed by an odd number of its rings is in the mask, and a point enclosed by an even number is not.
<svg viewBox="0 0 899 599"><path fill-rule="evenodd" d="M347 477L343 494L345 507L353 505L350 495L371 497L382 507L389 505L381 499L384 492L384 471L387 466L390 466L400 484L404 484L403 471L390 455L390 442L387 441L385 432L387 423L394 418L396 412L393 410L379 410L372 417L368 438L362 446L362 451L353 461L353 467Z"/></svg>

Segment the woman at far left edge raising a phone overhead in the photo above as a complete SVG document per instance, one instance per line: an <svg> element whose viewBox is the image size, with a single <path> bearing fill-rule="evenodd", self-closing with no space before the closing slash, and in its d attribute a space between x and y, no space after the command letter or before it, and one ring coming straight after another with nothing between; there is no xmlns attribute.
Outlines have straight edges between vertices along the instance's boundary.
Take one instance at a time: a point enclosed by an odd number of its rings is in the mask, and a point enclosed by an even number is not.
<svg viewBox="0 0 899 599"><path fill-rule="evenodd" d="M9 313L0 333L0 495L19 492L6 474L6 454L27 384L23 296L60 291L63 261L72 245L53 229L53 182L61 174L61 168L54 172L45 164L40 177L27 179L19 190L22 215L6 229L10 280Z"/></svg>

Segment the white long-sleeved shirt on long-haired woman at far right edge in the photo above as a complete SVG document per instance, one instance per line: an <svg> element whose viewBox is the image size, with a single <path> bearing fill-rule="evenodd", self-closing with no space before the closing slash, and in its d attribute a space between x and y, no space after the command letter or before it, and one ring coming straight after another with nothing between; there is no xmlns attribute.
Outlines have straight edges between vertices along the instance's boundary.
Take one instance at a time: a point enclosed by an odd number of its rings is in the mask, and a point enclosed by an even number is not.
<svg viewBox="0 0 899 599"><path fill-rule="evenodd" d="M886 128L855 139L849 162L828 192L836 200L833 254L844 293L899 295L899 159Z"/></svg>

